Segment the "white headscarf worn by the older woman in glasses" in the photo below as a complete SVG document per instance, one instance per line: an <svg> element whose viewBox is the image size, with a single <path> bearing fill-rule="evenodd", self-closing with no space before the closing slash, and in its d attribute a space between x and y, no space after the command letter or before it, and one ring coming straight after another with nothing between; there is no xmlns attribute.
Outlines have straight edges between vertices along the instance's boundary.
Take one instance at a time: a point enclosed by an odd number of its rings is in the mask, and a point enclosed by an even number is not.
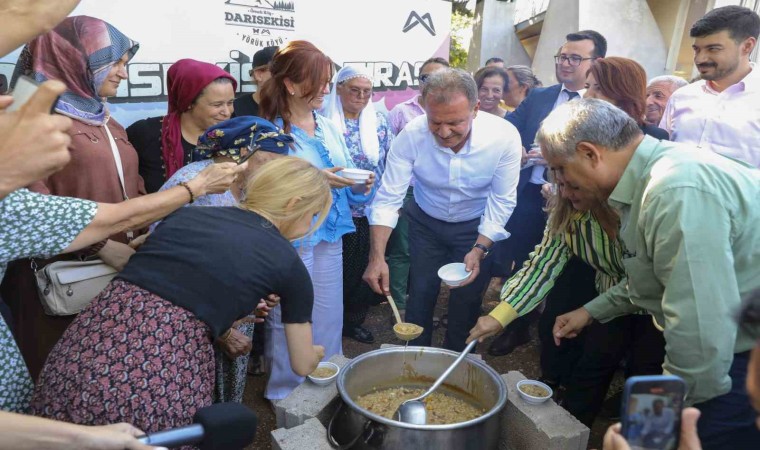
<svg viewBox="0 0 760 450"><path fill-rule="evenodd" d="M346 132L346 118L343 115L343 103L338 95L338 85L358 77L372 82L372 75L363 67L346 66L340 69L335 76L330 99L324 109L325 117L332 119L340 127L341 133ZM359 113L359 141L362 152L373 165L376 165L380 159L380 140L377 137L377 113L371 97L367 106Z"/></svg>

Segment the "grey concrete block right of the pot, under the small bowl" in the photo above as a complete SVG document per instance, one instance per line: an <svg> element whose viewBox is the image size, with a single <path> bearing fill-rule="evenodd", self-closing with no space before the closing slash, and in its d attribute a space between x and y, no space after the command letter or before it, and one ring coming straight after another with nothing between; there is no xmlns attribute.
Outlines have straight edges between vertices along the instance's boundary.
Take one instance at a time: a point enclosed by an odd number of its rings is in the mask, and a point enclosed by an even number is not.
<svg viewBox="0 0 760 450"><path fill-rule="evenodd" d="M539 405L523 401L517 382L525 376L511 371L501 376L507 384L507 405L501 413L500 450L585 450L589 429L548 400Z"/></svg>

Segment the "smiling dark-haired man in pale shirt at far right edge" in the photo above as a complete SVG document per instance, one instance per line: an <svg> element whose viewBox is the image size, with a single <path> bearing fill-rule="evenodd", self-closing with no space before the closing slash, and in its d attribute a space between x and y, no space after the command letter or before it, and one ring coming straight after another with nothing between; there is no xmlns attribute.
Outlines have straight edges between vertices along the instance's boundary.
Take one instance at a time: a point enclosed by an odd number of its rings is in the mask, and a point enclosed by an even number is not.
<svg viewBox="0 0 760 450"><path fill-rule="evenodd" d="M749 60L760 17L741 6L716 8L689 34L702 80L673 93L660 128L673 141L760 167L760 73Z"/></svg>

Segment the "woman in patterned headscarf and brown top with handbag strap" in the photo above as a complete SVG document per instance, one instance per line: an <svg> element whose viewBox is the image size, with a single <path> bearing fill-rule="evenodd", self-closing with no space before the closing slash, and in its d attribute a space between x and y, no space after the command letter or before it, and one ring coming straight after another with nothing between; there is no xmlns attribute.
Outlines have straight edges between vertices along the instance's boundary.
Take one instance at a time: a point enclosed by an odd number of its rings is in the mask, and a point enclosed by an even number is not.
<svg viewBox="0 0 760 450"><path fill-rule="evenodd" d="M27 44L16 73L39 82L64 82L68 90L56 103L55 112L74 119L69 130L71 162L32 184L30 190L104 203L119 203L145 193L137 171L137 153L124 128L110 117L105 102L126 80L126 64L137 49L136 42L112 25L87 16L69 17ZM134 253L127 245L130 235L134 233L119 233L55 260L97 255L120 270ZM41 269L52 261L37 260L36 265ZM44 313L30 264L22 260L9 266L2 297L11 307L19 347L36 378L72 317Z"/></svg>

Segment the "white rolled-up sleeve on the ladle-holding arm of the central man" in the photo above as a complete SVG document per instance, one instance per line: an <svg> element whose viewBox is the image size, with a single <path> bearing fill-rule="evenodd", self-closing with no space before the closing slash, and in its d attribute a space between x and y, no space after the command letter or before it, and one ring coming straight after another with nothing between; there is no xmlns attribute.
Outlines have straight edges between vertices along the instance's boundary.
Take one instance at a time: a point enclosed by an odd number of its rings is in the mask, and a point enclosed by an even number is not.
<svg viewBox="0 0 760 450"><path fill-rule="evenodd" d="M380 187L370 205L369 224L395 228L414 169L414 146L404 130L393 140Z"/></svg>

